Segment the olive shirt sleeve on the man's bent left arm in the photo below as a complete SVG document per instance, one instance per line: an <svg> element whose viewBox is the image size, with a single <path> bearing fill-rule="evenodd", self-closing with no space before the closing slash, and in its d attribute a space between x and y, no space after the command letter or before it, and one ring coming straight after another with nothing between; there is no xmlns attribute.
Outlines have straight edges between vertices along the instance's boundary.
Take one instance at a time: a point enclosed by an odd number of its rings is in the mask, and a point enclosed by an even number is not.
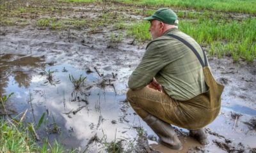
<svg viewBox="0 0 256 153"><path fill-rule="evenodd" d="M159 45L157 45L157 41L150 42L140 64L129 77L129 88L132 90L139 90L147 86L157 72L164 66L161 57L162 55L159 54Z"/></svg>

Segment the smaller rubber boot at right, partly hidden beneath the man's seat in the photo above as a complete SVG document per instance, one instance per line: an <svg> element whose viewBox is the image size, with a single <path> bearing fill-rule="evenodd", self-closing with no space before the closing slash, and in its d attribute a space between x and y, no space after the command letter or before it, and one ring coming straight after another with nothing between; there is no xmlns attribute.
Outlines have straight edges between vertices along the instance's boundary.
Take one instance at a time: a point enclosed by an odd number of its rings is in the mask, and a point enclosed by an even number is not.
<svg viewBox="0 0 256 153"><path fill-rule="evenodd" d="M205 129L194 129L189 130L189 135L195 138L201 145L209 144L209 140L207 139L207 134L205 133Z"/></svg>

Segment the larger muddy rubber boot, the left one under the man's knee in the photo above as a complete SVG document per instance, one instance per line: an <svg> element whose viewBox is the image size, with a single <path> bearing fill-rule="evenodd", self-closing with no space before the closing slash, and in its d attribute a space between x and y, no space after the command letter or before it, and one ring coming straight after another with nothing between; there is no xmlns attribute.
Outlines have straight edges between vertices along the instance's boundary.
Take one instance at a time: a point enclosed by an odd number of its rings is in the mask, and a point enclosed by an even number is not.
<svg viewBox="0 0 256 153"><path fill-rule="evenodd" d="M163 120L157 119L150 114L148 114L148 116L143 120L145 120L148 126L153 129L157 136L159 136L159 143L170 149L182 149L182 144L180 143L174 128L170 124L164 122Z"/></svg>

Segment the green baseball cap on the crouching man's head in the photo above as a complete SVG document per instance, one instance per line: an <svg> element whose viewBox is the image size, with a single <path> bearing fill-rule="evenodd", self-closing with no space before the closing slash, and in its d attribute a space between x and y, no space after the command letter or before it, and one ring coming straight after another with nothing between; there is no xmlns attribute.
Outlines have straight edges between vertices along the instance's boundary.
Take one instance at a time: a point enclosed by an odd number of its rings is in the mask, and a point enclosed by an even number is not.
<svg viewBox="0 0 256 153"><path fill-rule="evenodd" d="M164 22L164 24L178 24L178 17L176 13L170 8L160 8L150 17L143 18L144 20L159 20Z"/></svg>

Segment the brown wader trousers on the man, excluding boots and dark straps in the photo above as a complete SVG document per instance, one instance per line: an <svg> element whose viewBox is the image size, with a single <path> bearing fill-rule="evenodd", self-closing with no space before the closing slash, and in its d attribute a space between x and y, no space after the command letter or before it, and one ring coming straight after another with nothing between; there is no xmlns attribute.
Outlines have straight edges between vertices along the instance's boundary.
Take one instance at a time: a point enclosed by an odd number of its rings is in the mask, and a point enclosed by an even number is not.
<svg viewBox="0 0 256 153"><path fill-rule="evenodd" d="M207 66L204 67L204 76L208 91L186 101L177 101L164 92L148 87L137 91L129 89L127 100L142 119L149 113L180 128L204 128L220 112L220 97L224 88L214 80Z"/></svg>

